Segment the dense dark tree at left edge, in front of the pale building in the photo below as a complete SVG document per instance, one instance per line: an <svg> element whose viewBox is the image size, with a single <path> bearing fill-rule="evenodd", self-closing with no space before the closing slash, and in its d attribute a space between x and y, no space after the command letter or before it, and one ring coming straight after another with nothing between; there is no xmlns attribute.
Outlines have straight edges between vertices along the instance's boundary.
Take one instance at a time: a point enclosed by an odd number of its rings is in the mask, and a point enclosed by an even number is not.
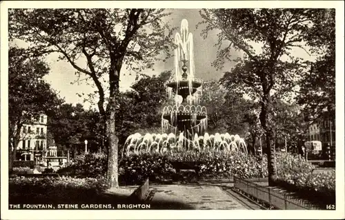
<svg viewBox="0 0 345 220"><path fill-rule="evenodd" d="M41 59L30 58L26 50L10 47L8 52L9 168L23 134L24 123L34 123L41 113L52 114L61 103L57 93L43 80L49 68Z"/></svg>

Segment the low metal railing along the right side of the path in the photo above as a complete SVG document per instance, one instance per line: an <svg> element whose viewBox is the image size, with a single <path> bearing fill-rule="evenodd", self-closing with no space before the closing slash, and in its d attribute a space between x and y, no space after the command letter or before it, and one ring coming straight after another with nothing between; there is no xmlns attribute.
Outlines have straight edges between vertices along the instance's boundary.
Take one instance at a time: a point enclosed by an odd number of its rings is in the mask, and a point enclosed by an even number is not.
<svg viewBox="0 0 345 220"><path fill-rule="evenodd" d="M273 190L268 187L268 183L258 181L259 179L242 179L234 177L234 188L240 192L266 203L269 207L281 210L319 210L319 206L308 203L303 199Z"/></svg>

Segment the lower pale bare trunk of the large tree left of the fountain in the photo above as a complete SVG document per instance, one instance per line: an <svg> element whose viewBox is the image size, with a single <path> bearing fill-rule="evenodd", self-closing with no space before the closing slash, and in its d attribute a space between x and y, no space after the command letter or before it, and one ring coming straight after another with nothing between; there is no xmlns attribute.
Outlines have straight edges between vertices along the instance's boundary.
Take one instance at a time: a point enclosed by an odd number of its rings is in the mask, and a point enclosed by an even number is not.
<svg viewBox="0 0 345 220"><path fill-rule="evenodd" d="M118 188L118 143L119 139L115 135L115 97L111 97L108 103L108 118L106 119L106 134L108 139L108 188Z"/></svg>

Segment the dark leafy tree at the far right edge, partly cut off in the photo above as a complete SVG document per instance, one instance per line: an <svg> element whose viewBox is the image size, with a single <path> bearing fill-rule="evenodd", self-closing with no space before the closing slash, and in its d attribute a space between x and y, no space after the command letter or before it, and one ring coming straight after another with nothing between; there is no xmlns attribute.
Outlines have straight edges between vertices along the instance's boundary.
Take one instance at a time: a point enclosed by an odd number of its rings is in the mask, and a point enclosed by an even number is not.
<svg viewBox="0 0 345 220"><path fill-rule="evenodd" d="M297 101L308 123L320 117L335 117L335 9L313 17L315 26L306 34L308 46L321 53L299 81Z"/></svg>

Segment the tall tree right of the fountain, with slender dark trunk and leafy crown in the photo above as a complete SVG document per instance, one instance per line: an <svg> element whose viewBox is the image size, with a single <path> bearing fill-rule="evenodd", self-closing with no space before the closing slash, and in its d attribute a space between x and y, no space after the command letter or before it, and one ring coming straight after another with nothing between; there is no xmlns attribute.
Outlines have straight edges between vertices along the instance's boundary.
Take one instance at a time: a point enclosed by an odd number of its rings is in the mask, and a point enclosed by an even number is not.
<svg viewBox="0 0 345 220"><path fill-rule="evenodd" d="M200 12L206 23L204 36L220 30L219 51L213 63L221 68L231 60L231 50L244 52L243 59L224 75L228 89L246 92L259 100L259 119L266 134L268 182L277 178L273 141L273 101L286 97L295 88L302 60L292 50L304 48L303 40L315 26L313 18L323 9L208 9ZM227 43L225 48L221 46ZM257 45L254 48L253 45Z"/></svg>

